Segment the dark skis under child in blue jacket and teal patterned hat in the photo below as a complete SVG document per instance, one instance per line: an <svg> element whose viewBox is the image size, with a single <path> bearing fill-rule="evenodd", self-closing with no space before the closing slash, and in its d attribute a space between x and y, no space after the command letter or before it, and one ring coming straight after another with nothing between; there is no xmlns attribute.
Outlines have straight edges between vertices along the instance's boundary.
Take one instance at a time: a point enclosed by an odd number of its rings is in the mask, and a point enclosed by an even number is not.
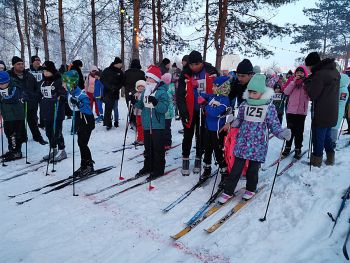
<svg viewBox="0 0 350 263"><path fill-rule="evenodd" d="M90 173L89 175L85 176L85 177L78 177L75 179L75 183L78 183L78 182L81 182L81 181L85 181L87 179L90 179L92 177L95 177L99 174L102 174L104 172L107 172L111 169L115 168L115 166L107 166L107 167L104 167L104 168L100 168L100 169L96 169L94 172ZM22 201L18 201L16 202L18 205L22 205L24 203L27 203L41 195L45 195L45 194L48 194L48 193L51 193L51 192L54 192L54 191L57 191L57 190L60 190L68 185L71 185L73 183L73 175L71 176L68 176L64 179L61 179L61 180L58 180L58 181L55 181L55 182L52 182L52 183L49 183L47 185L44 185L44 186L41 186L41 187L38 187L38 188L35 188L35 189L32 189L32 190L28 190L28 191L25 191L25 192L22 192L22 193L19 193L19 194L15 194L15 195L9 195L8 197L9 198L15 198L15 197L18 197L18 196L22 196L22 195L25 195L25 194L28 194L28 193L35 193L35 192L39 192L43 189L46 189L46 188L50 188L48 189L47 191L45 192L42 192L38 195L35 195L31 198L28 198L28 199L25 199L25 200L22 200Z"/></svg>

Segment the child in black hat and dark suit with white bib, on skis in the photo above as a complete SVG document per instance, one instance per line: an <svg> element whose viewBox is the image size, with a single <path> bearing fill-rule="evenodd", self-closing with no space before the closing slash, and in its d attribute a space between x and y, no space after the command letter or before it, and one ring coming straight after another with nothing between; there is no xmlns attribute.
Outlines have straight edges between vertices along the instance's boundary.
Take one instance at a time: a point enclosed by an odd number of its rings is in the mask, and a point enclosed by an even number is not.
<svg viewBox="0 0 350 263"><path fill-rule="evenodd" d="M62 86L61 74L52 61L45 61L43 64L43 82L40 90L42 94L40 108L44 113L45 131L51 148L50 155L45 155L43 159L59 162L67 158L62 133L67 97Z"/></svg>

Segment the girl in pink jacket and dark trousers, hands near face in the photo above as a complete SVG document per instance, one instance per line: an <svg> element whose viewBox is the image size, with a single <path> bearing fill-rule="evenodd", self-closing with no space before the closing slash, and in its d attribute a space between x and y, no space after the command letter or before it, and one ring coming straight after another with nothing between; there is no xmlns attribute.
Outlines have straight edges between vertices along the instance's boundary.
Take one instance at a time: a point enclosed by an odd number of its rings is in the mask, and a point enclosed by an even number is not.
<svg viewBox="0 0 350 263"><path fill-rule="evenodd" d="M287 105L287 127L292 131L292 137L286 142L286 147L282 153L283 157L290 154L293 139L295 145L294 158L301 158L301 148L303 147L303 134L305 118L309 106L309 96L306 93L304 79L308 77L305 66L299 66L294 72L294 79L284 90L284 94L289 96Z"/></svg>

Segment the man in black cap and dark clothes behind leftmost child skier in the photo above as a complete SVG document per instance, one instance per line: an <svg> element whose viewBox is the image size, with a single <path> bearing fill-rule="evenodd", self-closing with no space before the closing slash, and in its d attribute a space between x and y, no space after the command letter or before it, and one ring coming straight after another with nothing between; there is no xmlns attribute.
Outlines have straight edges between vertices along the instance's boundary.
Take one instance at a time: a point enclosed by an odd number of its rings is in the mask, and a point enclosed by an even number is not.
<svg viewBox="0 0 350 263"><path fill-rule="evenodd" d="M11 83L21 89L27 103L27 122L33 135L33 140L41 145L47 144L38 127L38 103L40 100L40 89L35 77L24 69L23 60L14 56L12 68L8 71Z"/></svg>

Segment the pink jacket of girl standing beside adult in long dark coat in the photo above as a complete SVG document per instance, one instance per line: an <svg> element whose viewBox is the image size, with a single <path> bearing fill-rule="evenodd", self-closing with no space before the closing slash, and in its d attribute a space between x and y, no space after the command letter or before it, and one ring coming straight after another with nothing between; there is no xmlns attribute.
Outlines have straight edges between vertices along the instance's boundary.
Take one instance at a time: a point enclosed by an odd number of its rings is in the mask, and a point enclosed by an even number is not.
<svg viewBox="0 0 350 263"><path fill-rule="evenodd" d="M307 115L309 106L309 96L307 95L304 83L300 88L295 85L296 80L294 79L284 90L284 94L289 96L287 113Z"/></svg>

